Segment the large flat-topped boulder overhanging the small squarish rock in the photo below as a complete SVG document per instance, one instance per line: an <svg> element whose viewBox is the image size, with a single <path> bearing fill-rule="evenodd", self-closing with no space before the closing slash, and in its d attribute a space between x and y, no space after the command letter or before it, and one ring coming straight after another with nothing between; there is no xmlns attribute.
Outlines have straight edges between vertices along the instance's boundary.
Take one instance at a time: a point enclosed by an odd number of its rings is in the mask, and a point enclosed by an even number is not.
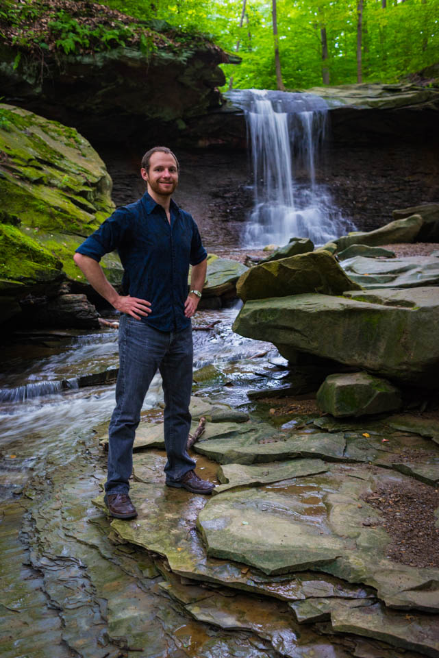
<svg viewBox="0 0 439 658"><path fill-rule="evenodd" d="M431 328L438 321L439 289L425 287L251 300L233 328L242 336L437 389L439 344Z"/></svg>

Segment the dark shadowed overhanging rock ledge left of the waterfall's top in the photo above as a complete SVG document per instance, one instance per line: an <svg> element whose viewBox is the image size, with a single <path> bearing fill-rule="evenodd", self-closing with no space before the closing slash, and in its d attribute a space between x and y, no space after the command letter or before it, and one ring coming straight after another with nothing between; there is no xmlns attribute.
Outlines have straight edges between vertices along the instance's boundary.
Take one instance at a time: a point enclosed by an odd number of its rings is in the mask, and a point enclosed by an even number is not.
<svg viewBox="0 0 439 658"><path fill-rule="evenodd" d="M30 57L22 56L14 66L17 48L3 45L3 94L20 97L26 109L74 125L95 141L106 143L110 134L113 141L126 143L141 135L147 143L155 141L160 126L169 143L185 121L221 105L218 86L225 76L218 64L240 60L165 21L156 21L154 32L151 25L143 29L151 41L149 51L139 48L138 38L125 47L88 53L65 55L53 49L45 55L42 76L40 64Z"/></svg>

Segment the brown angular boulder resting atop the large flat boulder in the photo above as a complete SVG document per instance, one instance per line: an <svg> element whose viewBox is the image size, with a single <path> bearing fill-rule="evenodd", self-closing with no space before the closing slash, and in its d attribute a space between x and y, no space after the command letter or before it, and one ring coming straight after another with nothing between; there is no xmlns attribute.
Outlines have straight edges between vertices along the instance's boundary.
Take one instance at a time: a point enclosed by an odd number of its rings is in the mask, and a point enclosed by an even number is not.
<svg viewBox="0 0 439 658"><path fill-rule="evenodd" d="M360 289L360 286L353 283L336 259L325 252L299 254L256 265L236 284L238 296L244 302L309 292L341 295L354 289Z"/></svg>

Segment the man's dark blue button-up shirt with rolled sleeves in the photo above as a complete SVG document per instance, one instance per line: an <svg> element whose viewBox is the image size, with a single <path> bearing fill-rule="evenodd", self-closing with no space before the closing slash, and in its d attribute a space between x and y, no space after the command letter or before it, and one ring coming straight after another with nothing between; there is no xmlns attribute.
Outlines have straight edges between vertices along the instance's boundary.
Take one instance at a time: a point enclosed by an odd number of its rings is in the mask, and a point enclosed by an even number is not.
<svg viewBox="0 0 439 658"><path fill-rule="evenodd" d="M160 331L181 331L190 325L184 316L189 264L198 265L208 254L192 215L172 200L170 211L171 225L164 208L146 192L118 208L76 251L99 262L117 249L123 293L151 302L151 313L142 321Z"/></svg>

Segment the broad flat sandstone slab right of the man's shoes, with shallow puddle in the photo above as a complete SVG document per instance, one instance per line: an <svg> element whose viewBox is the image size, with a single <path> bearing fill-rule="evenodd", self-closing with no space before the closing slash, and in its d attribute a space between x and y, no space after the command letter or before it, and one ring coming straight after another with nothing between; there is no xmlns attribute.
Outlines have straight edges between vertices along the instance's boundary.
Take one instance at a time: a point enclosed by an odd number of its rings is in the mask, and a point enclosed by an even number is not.
<svg viewBox="0 0 439 658"><path fill-rule="evenodd" d="M439 570L388 559L390 537L363 499L404 477L347 465L290 487L229 491L208 502L198 526L210 557L241 561L266 574L314 565L313 570L375 587L392 608L438 613Z"/></svg>

